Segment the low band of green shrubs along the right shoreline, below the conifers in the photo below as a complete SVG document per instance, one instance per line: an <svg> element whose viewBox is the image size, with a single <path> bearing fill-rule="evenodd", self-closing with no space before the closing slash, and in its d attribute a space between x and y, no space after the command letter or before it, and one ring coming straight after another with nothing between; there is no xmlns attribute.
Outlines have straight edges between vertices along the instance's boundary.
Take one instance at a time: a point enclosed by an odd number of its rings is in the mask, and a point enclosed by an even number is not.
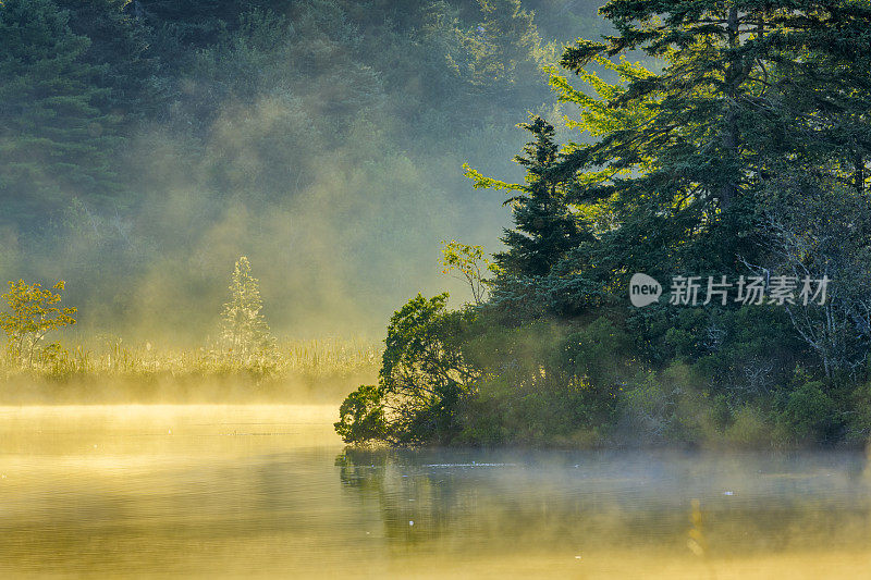
<svg viewBox="0 0 871 580"><path fill-rule="evenodd" d="M760 379L743 344L654 366L626 320L505 328L496 316L449 310L444 295L410 300L391 320L379 383L343 403L340 435L425 446L790 448L858 447L871 430L871 384L830 388L800 366L790 373L790 360ZM736 382L724 387L717 375Z"/></svg>

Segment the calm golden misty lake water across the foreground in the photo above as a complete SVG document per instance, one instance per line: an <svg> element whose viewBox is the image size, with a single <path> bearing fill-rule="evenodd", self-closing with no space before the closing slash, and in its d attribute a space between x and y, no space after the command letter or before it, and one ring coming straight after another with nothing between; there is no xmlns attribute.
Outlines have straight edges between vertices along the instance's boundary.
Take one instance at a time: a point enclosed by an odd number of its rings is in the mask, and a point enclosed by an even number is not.
<svg viewBox="0 0 871 580"><path fill-rule="evenodd" d="M869 578L861 454L344 452L332 407L0 407L0 578Z"/></svg>

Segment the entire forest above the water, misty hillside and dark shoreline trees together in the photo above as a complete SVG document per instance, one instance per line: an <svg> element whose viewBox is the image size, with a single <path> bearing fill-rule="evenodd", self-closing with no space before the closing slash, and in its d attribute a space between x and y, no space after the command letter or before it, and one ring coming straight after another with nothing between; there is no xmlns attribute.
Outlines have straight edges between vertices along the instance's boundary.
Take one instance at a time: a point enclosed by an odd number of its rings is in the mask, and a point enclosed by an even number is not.
<svg viewBox="0 0 871 580"><path fill-rule="evenodd" d="M0 378L327 344L353 445L864 443L871 3L601 4L0 0Z"/></svg>

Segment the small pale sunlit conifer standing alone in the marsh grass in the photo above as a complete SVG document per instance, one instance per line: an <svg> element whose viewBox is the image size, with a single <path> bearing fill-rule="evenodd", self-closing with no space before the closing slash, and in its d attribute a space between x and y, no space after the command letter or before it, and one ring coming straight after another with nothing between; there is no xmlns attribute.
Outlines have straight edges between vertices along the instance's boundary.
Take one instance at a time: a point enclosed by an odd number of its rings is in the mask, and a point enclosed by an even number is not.
<svg viewBox="0 0 871 580"><path fill-rule="evenodd" d="M233 269L230 294L221 313L221 341L231 356L247 360L271 346L272 337L262 314L259 283L252 275L252 264L245 256Z"/></svg>

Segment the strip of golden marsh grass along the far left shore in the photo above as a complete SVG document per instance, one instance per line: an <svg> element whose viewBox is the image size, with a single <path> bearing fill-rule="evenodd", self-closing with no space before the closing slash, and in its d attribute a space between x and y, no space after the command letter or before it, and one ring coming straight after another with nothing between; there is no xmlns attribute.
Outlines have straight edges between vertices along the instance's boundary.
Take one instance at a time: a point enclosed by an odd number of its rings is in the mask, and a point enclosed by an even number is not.
<svg viewBox="0 0 871 580"><path fill-rule="evenodd" d="M216 348L150 342L75 345L29 365L0 358L4 403L338 402L375 381L382 345L364 338L287 340L238 358Z"/></svg>

